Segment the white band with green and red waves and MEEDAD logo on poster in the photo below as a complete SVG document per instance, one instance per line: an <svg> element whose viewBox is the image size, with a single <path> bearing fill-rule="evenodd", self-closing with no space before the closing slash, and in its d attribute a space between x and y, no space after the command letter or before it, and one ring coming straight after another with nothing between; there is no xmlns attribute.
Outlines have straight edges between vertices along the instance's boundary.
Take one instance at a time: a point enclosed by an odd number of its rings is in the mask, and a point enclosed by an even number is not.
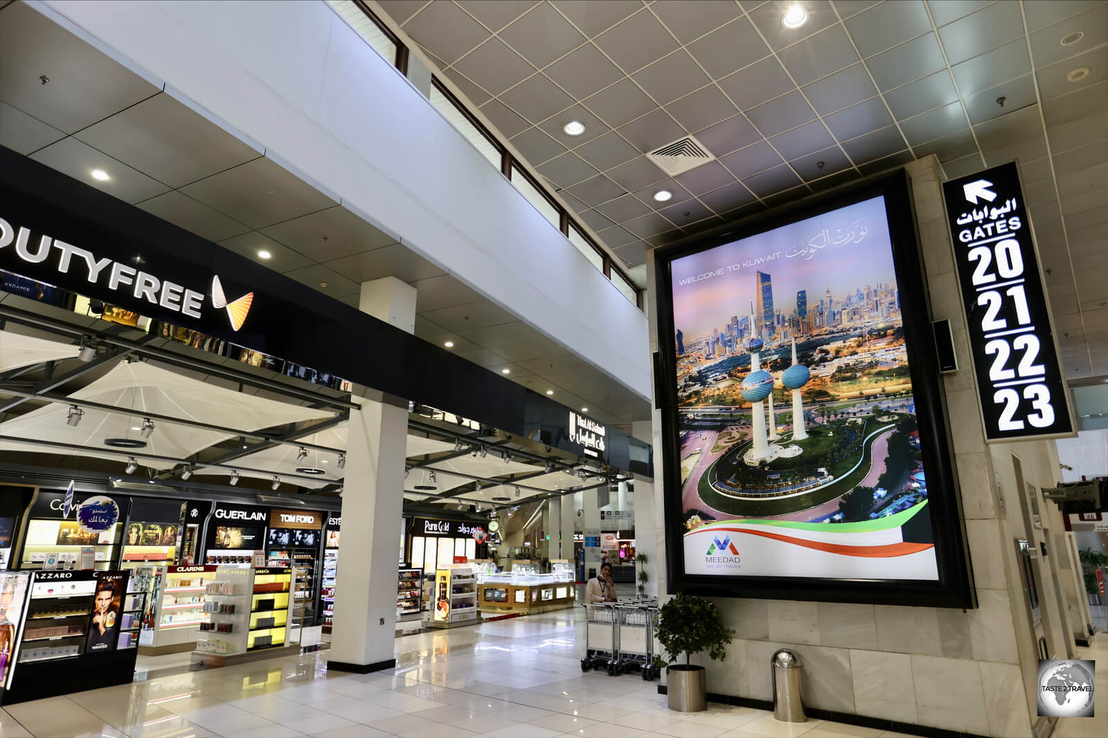
<svg viewBox="0 0 1108 738"><path fill-rule="evenodd" d="M725 545L719 545L729 537ZM705 552L708 553L705 553ZM938 580L927 502L862 522L721 520L685 533L685 571L738 576Z"/></svg>

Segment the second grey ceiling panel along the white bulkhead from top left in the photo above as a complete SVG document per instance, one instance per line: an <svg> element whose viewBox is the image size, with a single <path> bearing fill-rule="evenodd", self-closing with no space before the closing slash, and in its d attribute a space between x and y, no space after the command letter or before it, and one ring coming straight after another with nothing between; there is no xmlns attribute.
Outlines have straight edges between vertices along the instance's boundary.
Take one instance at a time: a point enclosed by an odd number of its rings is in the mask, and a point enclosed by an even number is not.
<svg viewBox="0 0 1108 738"><path fill-rule="evenodd" d="M175 188L263 154L166 93L74 135Z"/></svg>

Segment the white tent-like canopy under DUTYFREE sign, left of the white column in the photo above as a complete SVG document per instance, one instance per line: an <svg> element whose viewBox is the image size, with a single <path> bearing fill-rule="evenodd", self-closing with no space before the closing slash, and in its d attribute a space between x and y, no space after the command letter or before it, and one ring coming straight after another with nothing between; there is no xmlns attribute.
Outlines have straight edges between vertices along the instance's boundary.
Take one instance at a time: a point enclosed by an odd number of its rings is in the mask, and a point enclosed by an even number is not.
<svg viewBox="0 0 1108 738"><path fill-rule="evenodd" d="M131 453L156 454L187 458L208 446L234 437L234 434L195 428L168 420L155 420L154 434L140 436L147 413L179 417L219 425L238 430L261 430L287 423L331 417L330 410L248 395L215 384L183 376L146 362L124 362L101 378L71 395L73 404L82 399L132 408L116 413L83 407L84 415L76 426L65 419L69 406L51 404L32 413L0 424L0 435L34 440L84 446L84 450L55 449L54 453L96 458L120 459ZM135 438L146 446L109 453L106 438ZM19 441L0 441L0 450L50 453L50 447ZM295 453L295 449L294 449ZM155 469L173 467L172 461L141 459L143 466Z"/></svg>

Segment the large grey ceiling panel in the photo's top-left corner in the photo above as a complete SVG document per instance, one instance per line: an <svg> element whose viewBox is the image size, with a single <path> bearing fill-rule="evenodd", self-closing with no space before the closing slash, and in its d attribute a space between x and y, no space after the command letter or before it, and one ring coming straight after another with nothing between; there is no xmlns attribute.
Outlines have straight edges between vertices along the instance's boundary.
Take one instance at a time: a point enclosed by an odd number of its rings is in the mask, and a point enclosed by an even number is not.
<svg viewBox="0 0 1108 738"><path fill-rule="evenodd" d="M0 12L0 101L28 115L74 133L161 91L25 3Z"/></svg>

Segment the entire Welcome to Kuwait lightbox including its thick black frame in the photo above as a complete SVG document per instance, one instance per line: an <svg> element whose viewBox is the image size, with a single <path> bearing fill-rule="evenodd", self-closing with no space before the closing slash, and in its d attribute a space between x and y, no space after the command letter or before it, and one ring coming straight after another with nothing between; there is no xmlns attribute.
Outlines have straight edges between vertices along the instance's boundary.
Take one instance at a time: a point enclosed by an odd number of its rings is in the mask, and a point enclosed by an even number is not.
<svg viewBox="0 0 1108 738"><path fill-rule="evenodd" d="M676 586L972 606L903 173L657 274Z"/></svg>

